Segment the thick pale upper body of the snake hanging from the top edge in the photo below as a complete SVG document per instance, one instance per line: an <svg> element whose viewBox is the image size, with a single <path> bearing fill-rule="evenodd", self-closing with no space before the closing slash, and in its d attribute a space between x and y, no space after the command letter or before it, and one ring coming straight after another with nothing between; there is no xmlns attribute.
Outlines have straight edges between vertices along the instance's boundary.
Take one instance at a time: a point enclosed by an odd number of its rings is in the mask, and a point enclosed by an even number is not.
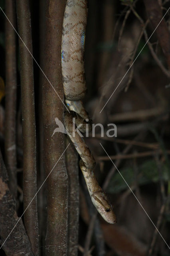
<svg viewBox="0 0 170 256"><path fill-rule="evenodd" d="M67 100L81 100L86 93L84 70L87 2L67 0L61 41L63 89Z"/></svg>

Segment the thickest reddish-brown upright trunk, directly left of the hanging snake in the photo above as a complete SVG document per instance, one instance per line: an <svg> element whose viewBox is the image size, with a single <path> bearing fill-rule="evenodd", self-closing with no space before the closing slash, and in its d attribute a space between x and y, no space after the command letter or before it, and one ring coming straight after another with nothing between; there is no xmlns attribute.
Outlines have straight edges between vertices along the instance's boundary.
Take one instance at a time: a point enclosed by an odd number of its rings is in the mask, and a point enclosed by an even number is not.
<svg viewBox="0 0 170 256"><path fill-rule="evenodd" d="M61 33L64 9L65 1L46 1L43 71L61 100L64 100L61 77ZM43 151L46 176L53 169L47 178L45 250L47 256L65 256L67 255L68 176L63 154L64 134L57 132L52 136L56 128L55 118L63 123L64 106L52 86L43 77Z"/></svg>

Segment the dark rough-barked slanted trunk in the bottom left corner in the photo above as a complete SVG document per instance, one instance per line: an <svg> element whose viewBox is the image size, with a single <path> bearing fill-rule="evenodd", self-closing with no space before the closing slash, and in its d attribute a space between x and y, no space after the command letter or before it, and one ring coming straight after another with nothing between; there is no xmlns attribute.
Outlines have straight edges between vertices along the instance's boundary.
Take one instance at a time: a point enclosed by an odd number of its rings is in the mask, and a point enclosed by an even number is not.
<svg viewBox="0 0 170 256"><path fill-rule="evenodd" d="M0 244L5 242L2 248L6 256L34 256L22 219L16 225L17 221L16 202L8 187L8 174L0 152Z"/></svg>

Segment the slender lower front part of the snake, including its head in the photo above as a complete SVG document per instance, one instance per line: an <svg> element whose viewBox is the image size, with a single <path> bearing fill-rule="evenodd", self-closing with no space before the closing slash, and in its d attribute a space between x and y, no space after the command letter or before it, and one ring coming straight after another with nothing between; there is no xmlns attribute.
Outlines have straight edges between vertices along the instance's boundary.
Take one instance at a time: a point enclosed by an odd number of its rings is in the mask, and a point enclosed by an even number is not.
<svg viewBox="0 0 170 256"><path fill-rule="evenodd" d="M109 202L107 195L96 180L95 174L93 172L95 166L95 159L91 154L87 144L81 138L81 136L76 132L75 137L73 137L73 115L68 112L65 113L65 128L67 130L67 135L73 142L75 149L79 153L81 160L79 162L81 171L85 178L91 200L101 214L101 216L109 223L116 223L117 218L113 210L113 206Z"/></svg>

